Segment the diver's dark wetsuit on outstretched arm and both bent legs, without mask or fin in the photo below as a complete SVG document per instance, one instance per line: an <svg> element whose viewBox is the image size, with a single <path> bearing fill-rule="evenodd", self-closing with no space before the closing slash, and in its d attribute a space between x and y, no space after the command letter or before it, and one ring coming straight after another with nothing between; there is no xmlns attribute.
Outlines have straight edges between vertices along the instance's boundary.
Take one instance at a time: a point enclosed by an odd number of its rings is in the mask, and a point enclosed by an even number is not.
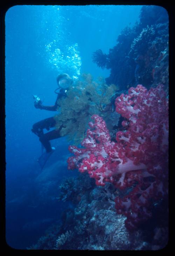
<svg viewBox="0 0 175 256"><path fill-rule="evenodd" d="M54 106L43 106L41 105L40 109L50 110L50 111L56 111L59 105L57 104L57 100L61 97L66 97L66 90L61 89L57 95L57 99ZM57 130L52 130L48 133L43 133L43 129L49 130L52 127L55 127L56 121L54 117L49 117L44 120L41 120L33 125L33 129L31 131L35 133L39 138L41 143L46 149L46 152L52 151L50 140L57 139L61 137L60 130L62 129L62 126L59 127Z"/></svg>

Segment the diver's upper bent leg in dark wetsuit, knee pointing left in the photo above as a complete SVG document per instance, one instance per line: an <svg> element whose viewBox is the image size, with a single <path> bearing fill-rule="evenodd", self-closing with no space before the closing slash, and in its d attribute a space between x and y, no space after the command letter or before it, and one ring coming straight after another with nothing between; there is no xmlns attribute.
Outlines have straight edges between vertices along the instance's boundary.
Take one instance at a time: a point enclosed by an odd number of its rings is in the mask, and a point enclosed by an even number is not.
<svg viewBox="0 0 175 256"><path fill-rule="evenodd" d="M37 123L34 123L33 129L31 129L31 131L35 133L38 137L40 137L43 135L43 129L49 130L49 128L54 127L55 124L56 121L54 117L49 117Z"/></svg>

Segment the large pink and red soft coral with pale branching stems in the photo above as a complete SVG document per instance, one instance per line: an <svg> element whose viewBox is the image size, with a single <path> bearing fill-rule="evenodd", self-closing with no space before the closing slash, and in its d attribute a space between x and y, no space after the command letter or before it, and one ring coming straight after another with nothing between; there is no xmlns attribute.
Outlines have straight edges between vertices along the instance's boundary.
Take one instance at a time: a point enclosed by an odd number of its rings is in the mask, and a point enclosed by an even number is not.
<svg viewBox="0 0 175 256"><path fill-rule="evenodd" d="M68 168L87 171L99 186L133 186L115 200L117 213L127 216L126 227L132 230L151 216L152 203L168 194L168 100L161 85L149 91L138 85L117 97L116 111L126 129L116 134L117 142L111 141L103 119L93 115L84 148L69 147L75 156Z"/></svg>

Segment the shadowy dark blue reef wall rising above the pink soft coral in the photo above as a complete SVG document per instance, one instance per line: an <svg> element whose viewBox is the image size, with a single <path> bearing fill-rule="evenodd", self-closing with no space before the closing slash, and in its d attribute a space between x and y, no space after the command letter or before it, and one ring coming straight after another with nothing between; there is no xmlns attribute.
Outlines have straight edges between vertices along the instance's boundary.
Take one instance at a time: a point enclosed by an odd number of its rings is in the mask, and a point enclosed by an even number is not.
<svg viewBox="0 0 175 256"><path fill-rule="evenodd" d="M160 6L143 6L140 21L126 27L117 38L117 45L104 54L98 49L92 60L99 67L110 69L106 83L126 90L143 84L156 87L162 83L168 90L168 13Z"/></svg>

